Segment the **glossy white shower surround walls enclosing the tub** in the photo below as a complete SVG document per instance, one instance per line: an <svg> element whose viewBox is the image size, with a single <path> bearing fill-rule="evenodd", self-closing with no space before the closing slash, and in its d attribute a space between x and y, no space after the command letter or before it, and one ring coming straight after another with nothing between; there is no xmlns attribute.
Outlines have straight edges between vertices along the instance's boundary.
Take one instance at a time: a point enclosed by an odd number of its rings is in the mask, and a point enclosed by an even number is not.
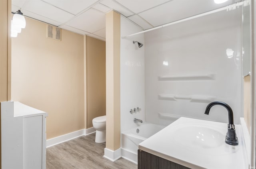
<svg viewBox="0 0 256 169"><path fill-rule="evenodd" d="M228 115L221 106L212 108L209 116L204 114L210 102L223 101L234 110L234 123L239 123L241 19L241 9L222 11L121 38L122 157L135 161L134 145L127 146L129 140L138 142L129 132L140 126L134 118L160 126L180 117L226 123ZM121 37L139 31L142 29L121 17ZM139 48L133 41L144 46ZM130 114L136 107L141 111Z"/></svg>

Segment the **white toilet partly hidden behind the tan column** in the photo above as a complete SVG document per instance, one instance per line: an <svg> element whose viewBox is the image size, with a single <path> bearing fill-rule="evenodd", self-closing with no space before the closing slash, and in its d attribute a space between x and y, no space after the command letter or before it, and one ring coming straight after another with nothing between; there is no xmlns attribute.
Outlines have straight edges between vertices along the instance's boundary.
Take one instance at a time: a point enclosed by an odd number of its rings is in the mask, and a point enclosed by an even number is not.
<svg viewBox="0 0 256 169"><path fill-rule="evenodd" d="M96 129L95 142L106 142L106 115L92 119L92 126Z"/></svg>

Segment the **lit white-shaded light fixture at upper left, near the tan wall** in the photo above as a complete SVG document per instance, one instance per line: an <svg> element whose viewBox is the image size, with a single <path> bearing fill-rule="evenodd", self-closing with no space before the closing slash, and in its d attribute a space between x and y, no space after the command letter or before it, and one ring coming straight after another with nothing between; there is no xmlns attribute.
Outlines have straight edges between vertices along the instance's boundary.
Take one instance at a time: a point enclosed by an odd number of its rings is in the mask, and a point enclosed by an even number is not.
<svg viewBox="0 0 256 169"><path fill-rule="evenodd" d="M18 33L21 32L21 28L26 27L26 20L23 16L23 13L20 10L17 10L12 17L12 25L11 25L11 37L17 37Z"/></svg>

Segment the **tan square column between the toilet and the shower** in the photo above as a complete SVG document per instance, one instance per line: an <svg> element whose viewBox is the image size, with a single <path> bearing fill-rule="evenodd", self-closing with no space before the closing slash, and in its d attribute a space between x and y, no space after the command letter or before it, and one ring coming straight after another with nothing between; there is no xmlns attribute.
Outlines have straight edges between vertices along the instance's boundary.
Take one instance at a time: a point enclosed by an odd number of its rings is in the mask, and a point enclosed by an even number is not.
<svg viewBox="0 0 256 169"><path fill-rule="evenodd" d="M106 14L106 148L120 148L120 14Z"/></svg>

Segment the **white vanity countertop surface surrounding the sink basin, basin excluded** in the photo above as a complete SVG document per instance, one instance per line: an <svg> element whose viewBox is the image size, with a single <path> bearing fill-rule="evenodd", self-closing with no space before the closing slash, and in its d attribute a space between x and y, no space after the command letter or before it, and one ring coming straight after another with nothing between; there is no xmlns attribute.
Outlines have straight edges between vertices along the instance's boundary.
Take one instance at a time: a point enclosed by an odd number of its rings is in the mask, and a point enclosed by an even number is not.
<svg viewBox="0 0 256 169"><path fill-rule="evenodd" d="M198 148L200 145L189 147L184 143L179 143L175 137L176 129L187 124L207 125L209 128L218 129L218 132L223 134L223 143L221 142L218 147L211 147L211 145L207 145L207 142L203 142L207 146L205 149L203 147ZM192 169L247 169L241 126L235 125L238 145L225 143L224 136L228 130L227 126L226 123L182 117L141 142L139 149Z"/></svg>

